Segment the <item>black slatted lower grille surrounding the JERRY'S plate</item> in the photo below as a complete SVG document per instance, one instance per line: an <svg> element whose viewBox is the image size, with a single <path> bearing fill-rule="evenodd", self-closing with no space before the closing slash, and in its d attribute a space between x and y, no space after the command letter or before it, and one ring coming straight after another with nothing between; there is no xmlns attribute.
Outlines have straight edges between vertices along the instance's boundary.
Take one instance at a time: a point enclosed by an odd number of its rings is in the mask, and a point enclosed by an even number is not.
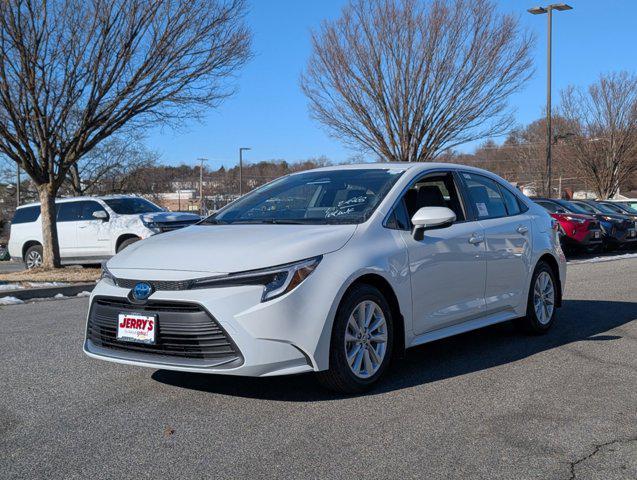
<svg viewBox="0 0 637 480"><path fill-rule="evenodd" d="M156 344L117 340L120 313L156 315ZM93 345L114 351L161 355L170 358L240 363L241 353L215 319L193 303L151 301L136 305L121 298L96 297L86 332Z"/></svg>

